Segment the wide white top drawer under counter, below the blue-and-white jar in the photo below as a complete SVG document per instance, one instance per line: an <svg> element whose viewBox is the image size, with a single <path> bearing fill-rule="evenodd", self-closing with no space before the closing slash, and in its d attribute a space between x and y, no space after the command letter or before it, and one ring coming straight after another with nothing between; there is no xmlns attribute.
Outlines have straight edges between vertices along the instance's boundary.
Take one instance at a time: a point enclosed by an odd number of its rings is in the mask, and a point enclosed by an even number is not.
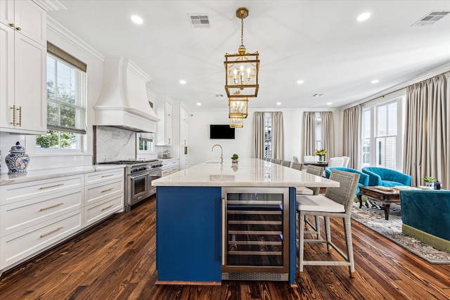
<svg viewBox="0 0 450 300"><path fill-rule="evenodd" d="M83 177L81 175L2 185L0 186L0 205L35 199L72 188L82 188L82 185Z"/></svg>

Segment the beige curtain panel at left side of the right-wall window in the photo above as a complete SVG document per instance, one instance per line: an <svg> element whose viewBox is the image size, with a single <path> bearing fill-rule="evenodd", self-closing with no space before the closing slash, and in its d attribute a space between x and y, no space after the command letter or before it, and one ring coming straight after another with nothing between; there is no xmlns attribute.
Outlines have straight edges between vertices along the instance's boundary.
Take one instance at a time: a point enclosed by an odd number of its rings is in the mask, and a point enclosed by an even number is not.
<svg viewBox="0 0 450 300"><path fill-rule="evenodd" d="M343 154L350 157L349 168L360 169L362 106L344 110Z"/></svg>

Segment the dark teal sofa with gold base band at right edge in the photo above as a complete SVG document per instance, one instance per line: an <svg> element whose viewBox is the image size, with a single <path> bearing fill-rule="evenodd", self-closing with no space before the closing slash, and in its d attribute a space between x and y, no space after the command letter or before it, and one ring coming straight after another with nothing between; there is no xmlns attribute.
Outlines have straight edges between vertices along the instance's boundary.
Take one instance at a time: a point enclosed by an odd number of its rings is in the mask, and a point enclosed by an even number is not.
<svg viewBox="0 0 450 300"><path fill-rule="evenodd" d="M401 231L450 253L450 190L400 190Z"/></svg>

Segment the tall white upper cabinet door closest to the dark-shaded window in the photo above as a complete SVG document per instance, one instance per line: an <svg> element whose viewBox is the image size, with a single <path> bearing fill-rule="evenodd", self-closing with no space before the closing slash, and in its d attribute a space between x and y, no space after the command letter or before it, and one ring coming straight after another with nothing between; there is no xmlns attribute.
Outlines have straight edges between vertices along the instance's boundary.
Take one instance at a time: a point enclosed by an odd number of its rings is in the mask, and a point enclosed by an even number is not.
<svg viewBox="0 0 450 300"><path fill-rule="evenodd" d="M46 47L15 34L15 129L46 132Z"/></svg>

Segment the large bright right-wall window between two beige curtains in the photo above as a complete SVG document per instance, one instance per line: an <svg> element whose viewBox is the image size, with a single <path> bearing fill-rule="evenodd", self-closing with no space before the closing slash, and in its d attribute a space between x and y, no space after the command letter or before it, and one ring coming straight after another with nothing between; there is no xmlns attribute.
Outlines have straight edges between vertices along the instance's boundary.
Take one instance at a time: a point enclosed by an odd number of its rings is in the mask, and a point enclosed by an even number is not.
<svg viewBox="0 0 450 300"><path fill-rule="evenodd" d="M366 107L362 116L362 167L401 170L402 105L405 96L388 103Z"/></svg>

